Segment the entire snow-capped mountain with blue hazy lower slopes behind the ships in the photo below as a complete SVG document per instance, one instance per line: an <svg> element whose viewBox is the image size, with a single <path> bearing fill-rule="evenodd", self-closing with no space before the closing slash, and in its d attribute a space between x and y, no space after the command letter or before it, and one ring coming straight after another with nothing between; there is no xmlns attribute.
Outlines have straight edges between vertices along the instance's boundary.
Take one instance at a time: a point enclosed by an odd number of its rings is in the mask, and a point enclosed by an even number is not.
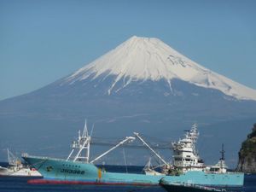
<svg viewBox="0 0 256 192"><path fill-rule="evenodd" d="M202 67L160 39L134 36L67 77L1 101L0 147L65 156L85 118L95 124L96 137L138 131L168 141L197 122L202 157L214 163L225 143L234 164L255 123L256 90Z"/></svg>

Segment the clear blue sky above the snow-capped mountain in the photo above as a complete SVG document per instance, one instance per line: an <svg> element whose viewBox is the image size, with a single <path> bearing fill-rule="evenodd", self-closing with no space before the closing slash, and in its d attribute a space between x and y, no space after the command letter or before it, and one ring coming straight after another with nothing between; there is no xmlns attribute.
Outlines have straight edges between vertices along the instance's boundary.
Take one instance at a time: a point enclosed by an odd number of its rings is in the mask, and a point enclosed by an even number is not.
<svg viewBox="0 0 256 192"><path fill-rule="evenodd" d="M67 76L133 35L256 89L256 1L0 0L0 100Z"/></svg>

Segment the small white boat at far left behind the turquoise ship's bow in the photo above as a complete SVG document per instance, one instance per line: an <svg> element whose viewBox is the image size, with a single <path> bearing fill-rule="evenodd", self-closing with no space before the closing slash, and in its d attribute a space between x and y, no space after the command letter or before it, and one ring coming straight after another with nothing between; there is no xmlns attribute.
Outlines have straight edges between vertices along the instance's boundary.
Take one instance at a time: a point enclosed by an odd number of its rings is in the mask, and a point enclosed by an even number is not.
<svg viewBox="0 0 256 192"><path fill-rule="evenodd" d="M42 177L35 168L22 164L19 158L9 151L9 148L7 148L7 154L9 166L0 166L0 176Z"/></svg>

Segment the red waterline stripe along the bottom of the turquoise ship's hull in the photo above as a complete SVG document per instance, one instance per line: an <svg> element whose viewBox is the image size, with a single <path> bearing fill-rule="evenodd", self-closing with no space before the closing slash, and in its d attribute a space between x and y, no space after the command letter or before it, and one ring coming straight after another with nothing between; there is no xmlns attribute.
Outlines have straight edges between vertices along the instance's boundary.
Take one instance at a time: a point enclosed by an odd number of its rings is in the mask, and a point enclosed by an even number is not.
<svg viewBox="0 0 256 192"><path fill-rule="evenodd" d="M83 181L64 181L64 180L47 180L47 179L31 179L27 183L30 184L87 184L87 185L133 185L133 186L156 186L158 184L151 183L108 183L108 182L83 182Z"/></svg>

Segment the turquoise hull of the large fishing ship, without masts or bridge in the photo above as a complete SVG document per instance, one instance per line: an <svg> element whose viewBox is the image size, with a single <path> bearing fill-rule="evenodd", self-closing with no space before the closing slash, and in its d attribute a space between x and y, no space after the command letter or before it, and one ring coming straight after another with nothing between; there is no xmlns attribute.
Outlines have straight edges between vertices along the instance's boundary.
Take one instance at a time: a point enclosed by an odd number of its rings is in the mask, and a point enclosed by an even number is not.
<svg viewBox="0 0 256 192"><path fill-rule="evenodd" d="M179 176L153 176L145 174L102 172L93 164L44 157L24 156L30 165L44 176L44 183L84 183L116 185L158 185L166 183L193 183L204 186L241 187L243 173L213 174L190 171ZM42 180L43 182L43 180Z"/></svg>

